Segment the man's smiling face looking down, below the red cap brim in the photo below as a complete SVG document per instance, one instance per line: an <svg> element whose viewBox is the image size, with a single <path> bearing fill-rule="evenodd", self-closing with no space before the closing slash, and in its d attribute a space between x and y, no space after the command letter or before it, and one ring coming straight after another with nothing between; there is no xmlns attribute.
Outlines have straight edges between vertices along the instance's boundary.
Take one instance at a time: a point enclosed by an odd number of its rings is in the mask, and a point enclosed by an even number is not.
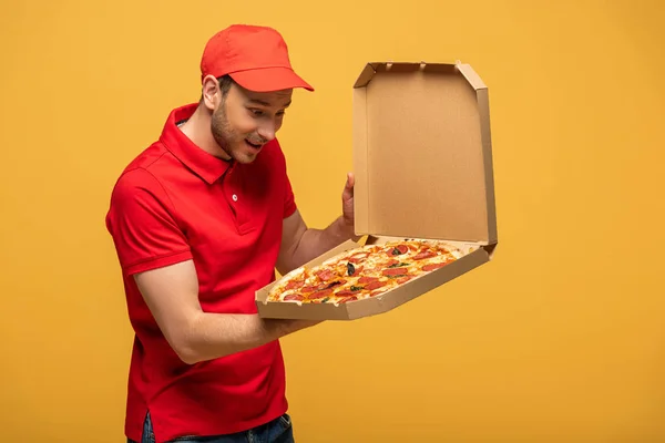
<svg viewBox="0 0 665 443"><path fill-rule="evenodd" d="M284 113L291 101L291 90L253 92L233 84L214 109L211 130L228 157L252 163L262 147L275 138Z"/></svg>

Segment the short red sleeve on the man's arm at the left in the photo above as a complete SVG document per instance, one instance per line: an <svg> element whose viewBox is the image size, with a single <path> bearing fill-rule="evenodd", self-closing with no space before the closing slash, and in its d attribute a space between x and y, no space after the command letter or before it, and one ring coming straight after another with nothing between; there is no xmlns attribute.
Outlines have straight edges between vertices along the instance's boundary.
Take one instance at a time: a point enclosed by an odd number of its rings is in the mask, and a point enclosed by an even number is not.
<svg viewBox="0 0 665 443"><path fill-rule="evenodd" d="M192 258L166 192L145 169L125 172L115 184L106 228L125 275Z"/></svg>

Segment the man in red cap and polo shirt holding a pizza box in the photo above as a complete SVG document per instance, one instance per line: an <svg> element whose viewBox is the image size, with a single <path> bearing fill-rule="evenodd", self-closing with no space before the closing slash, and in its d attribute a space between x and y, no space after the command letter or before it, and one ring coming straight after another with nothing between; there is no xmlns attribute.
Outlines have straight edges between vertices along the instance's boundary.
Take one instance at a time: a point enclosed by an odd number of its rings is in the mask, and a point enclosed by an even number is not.
<svg viewBox="0 0 665 443"><path fill-rule="evenodd" d="M275 268L355 238L354 176L342 215L308 228L275 133L293 90L314 89L277 31L221 31L201 71L200 102L171 112L121 174L106 216L135 331L125 434L293 442L278 339L316 322L260 319L254 293Z"/></svg>

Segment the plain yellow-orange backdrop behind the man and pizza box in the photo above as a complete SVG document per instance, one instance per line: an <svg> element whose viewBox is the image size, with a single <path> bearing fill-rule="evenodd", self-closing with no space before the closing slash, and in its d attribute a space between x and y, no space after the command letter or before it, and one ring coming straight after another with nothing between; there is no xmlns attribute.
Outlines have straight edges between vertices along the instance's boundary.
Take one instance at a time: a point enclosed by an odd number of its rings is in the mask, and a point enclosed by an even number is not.
<svg viewBox="0 0 665 443"><path fill-rule="evenodd" d="M298 442L665 441L663 3L3 3L1 441L123 441L109 194L232 22L282 31L317 87L279 134L316 227L340 210L365 62L459 59L490 91L495 260L285 339Z"/></svg>

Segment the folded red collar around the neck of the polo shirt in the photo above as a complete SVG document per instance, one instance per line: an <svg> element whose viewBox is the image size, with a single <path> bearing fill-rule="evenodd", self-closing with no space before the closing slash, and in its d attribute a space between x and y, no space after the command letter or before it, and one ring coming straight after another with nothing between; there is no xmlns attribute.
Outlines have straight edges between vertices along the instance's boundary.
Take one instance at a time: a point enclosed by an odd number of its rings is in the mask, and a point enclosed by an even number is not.
<svg viewBox="0 0 665 443"><path fill-rule="evenodd" d="M194 174L208 184L213 184L227 169L233 168L235 162L225 162L203 151L177 127L177 123L190 119L197 106L198 103L192 103L171 111L160 136L160 142Z"/></svg>

